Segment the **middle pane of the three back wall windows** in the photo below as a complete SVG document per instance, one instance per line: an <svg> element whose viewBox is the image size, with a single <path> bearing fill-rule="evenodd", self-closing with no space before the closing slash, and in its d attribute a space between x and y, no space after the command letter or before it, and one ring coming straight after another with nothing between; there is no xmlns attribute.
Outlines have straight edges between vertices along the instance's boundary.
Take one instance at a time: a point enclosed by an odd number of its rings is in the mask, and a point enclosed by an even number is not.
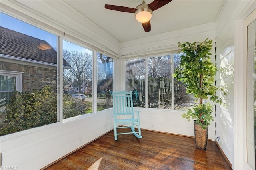
<svg viewBox="0 0 256 170"><path fill-rule="evenodd" d="M171 55L148 58L148 107L171 109Z"/></svg>

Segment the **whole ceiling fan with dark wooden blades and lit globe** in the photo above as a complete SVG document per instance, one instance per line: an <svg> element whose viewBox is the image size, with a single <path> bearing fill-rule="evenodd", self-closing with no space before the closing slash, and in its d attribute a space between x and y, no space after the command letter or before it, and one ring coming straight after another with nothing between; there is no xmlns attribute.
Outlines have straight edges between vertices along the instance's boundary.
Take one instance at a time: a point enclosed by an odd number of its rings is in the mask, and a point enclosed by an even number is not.
<svg viewBox="0 0 256 170"><path fill-rule="evenodd" d="M142 23L145 32L149 32L151 30L150 19L153 11L161 8L171 1L172 0L154 0L150 4L146 4L145 1L142 0L142 4L136 6L136 8L108 4L105 5L105 8L121 12L135 13L136 20Z"/></svg>

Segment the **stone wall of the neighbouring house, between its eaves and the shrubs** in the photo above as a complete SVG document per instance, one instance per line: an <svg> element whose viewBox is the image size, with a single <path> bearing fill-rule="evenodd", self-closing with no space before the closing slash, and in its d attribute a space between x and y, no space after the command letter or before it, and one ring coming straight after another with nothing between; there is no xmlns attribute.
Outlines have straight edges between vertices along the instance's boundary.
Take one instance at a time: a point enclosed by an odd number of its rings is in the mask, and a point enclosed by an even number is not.
<svg viewBox="0 0 256 170"><path fill-rule="evenodd" d="M24 92L32 92L34 89L42 89L42 87L44 87L45 85L49 85L50 87L52 87L52 89L57 89L56 69L1 61L0 70L23 72L22 91Z"/></svg>

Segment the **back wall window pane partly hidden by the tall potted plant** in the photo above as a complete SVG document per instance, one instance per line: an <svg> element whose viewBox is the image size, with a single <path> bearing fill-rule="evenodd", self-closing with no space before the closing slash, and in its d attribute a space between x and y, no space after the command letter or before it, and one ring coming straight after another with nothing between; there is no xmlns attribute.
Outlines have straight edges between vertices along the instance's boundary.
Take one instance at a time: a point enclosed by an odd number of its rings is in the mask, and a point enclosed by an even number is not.
<svg viewBox="0 0 256 170"><path fill-rule="evenodd" d="M174 70L178 67L180 63L180 56L183 55L180 54L174 54L173 57L173 65ZM193 95L189 95L186 93L186 87L181 81L177 81L177 79L174 78L173 80L174 84L174 109L175 110L186 110L192 105L195 101L195 98Z"/></svg>

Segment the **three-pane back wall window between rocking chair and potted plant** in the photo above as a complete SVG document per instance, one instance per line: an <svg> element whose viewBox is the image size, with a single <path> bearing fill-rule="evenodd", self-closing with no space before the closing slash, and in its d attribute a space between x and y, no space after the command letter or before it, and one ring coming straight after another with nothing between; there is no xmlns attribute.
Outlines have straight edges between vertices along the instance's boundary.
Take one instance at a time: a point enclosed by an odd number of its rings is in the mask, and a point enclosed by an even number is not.
<svg viewBox="0 0 256 170"><path fill-rule="evenodd" d="M190 107L194 102L193 96L186 93L182 82L172 77L179 64L180 55L126 61L126 91L133 92L134 107L176 110L186 110Z"/></svg>

